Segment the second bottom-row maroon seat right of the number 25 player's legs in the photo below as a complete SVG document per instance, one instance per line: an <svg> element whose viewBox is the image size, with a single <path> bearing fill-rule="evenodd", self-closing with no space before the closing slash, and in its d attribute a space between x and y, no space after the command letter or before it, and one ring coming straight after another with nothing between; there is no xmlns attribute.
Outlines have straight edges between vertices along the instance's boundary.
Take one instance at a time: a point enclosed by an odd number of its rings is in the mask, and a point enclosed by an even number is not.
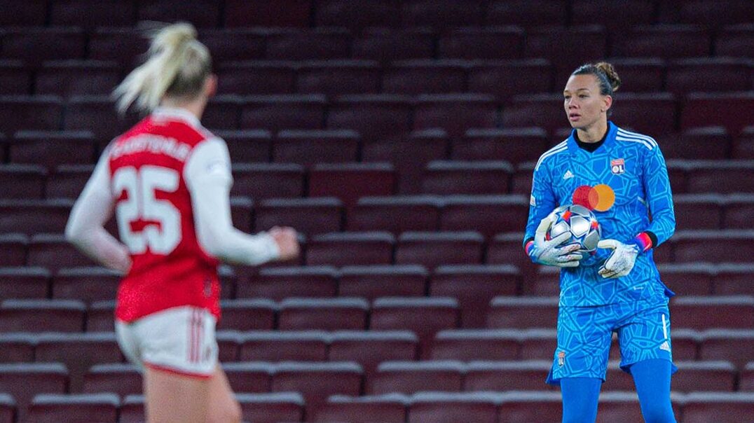
<svg viewBox="0 0 754 423"><path fill-rule="evenodd" d="M327 403L318 407L313 421L382 421L403 423L406 421L406 408L409 398L402 394L366 395L347 397L332 395Z"/></svg>

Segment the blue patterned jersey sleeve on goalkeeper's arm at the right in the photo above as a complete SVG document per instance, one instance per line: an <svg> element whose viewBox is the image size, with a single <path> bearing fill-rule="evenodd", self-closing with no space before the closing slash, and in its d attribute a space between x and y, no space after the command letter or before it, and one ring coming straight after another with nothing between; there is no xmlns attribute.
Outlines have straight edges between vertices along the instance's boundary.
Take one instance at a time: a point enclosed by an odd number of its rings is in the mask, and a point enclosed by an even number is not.
<svg viewBox="0 0 754 423"><path fill-rule="evenodd" d="M657 237L657 245L660 245L676 231L676 212L673 210L673 192L670 191L667 165L659 146L654 146L645 157L643 179L647 205L651 213L651 223L647 231L651 231Z"/></svg>

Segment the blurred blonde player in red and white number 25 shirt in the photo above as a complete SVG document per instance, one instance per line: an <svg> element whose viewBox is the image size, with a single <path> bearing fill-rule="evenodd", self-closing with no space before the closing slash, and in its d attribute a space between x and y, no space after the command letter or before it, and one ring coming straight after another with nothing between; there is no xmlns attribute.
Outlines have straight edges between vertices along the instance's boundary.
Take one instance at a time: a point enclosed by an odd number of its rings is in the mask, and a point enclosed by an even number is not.
<svg viewBox="0 0 754 423"><path fill-rule="evenodd" d="M233 228L228 149L199 121L216 90L211 70L191 25L152 34L146 62L115 89L120 112L150 115L103 152L66 227L87 256L124 273L115 330L143 370L152 422L241 421L217 358L217 265L299 254L292 228ZM113 210L124 244L103 228Z"/></svg>

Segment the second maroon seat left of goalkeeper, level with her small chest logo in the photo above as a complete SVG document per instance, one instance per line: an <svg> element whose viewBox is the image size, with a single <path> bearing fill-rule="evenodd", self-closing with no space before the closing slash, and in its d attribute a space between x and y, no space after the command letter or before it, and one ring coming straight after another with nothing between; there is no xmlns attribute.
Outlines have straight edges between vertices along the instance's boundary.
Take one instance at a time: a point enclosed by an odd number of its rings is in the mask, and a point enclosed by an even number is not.
<svg viewBox="0 0 754 423"><path fill-rule="evenodd" d="M431 161L422 191L427 194L507 194L513 166L507 161Z"/></svg>

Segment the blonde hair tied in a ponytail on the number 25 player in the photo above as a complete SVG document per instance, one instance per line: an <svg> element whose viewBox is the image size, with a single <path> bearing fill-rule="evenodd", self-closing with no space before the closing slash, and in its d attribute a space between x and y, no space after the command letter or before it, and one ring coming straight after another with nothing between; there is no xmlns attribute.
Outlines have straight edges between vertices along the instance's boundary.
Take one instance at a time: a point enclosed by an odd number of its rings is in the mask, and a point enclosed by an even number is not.
<svg viewBox="0 0 754 423"><path fill-rule="evenodd" d="M151 112L163 97L192 98L201 92L211 72L210 52L196 39L190 23L165 26L149 35L152 44L143 65L115 87L118 112L136 103L141 112Z"/></svg>

